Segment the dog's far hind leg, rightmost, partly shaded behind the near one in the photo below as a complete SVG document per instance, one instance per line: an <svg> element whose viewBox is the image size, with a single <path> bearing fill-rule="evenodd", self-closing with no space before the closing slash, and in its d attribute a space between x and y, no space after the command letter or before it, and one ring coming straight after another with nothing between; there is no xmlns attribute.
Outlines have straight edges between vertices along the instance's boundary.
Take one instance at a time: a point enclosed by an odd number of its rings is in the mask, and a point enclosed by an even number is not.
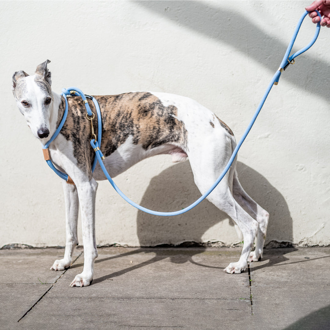
<svg viewBox="0 0 330 330"><path fill-rule="evenodd" d="M233 178L233 196L238 204L255 220L259 227L257 232L257 242L255 250L250 253L248 261L258 261L262 258L263 247L266 239L269 213L259 206L242 188L237 172L235 170Z"/></svg>

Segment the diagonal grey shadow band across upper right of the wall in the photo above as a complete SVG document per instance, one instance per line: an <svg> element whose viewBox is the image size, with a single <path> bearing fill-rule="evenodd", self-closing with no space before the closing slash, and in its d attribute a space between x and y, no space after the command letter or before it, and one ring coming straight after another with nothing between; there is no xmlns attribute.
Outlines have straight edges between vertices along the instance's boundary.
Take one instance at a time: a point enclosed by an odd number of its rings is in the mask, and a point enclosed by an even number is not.
<svg viewBox="0 0 330 330"><path fill-rule="evenodd" d="M206 1L141 1L137 0L140 6L145 7L150 12L162 16L173 23L177 24L179 28L185 27L198 34L205 35L207 38L212 38L224 45L229 45L235 51L245 54L245 56L254 59L264 67L270 70L277 70L282 61L282 56L288 47L290 39L282 41L279 38L274 38L267 34L265 29L260 28L248 15L242 15L239 12L230 10L230 3L220 2L222 8L215 7L212 2ZM248 4L248 6L251 6ZM262 6L256 8L260 14L266 12ZM290 23L288 29L294 32L296 22L304 13L304 5L301 5L301 12L297 13L297 17ZM267 14L268 15L268 14ZM230 19L233 18L233 19ZM309 24L311 30L311 37L314 34L315 25L307 16L304 24ZM237 22L240 22L239 25ZM242 30L242 26L244 29ZM324 29L324 28L323 28ZM164 30L164 34L167 31ZM247 41L248 47L247 49ZM318 46L320 47L320 46ZM198 49L198 47L196 48ZM248 50L248 51L247 51ZM296 51L294 46L293 51ZM189 54L194 56L194 54ZM267 59L260 61L260 59ZM230 56L226 58L227 66L236 66L237 63L232 62ZM323 77L329 77L330 67L327 61L320 58L315 62L314 56L311 53L304 53L299 57L299 68L301 70L290 70L290 74L283 76L282 79L287 80L290 84L302 90L318 95L324 99L329 96L329 84L326 81L320 81L319 76L313 72L322 72ZM313 65L311 65L313 63ZM308 72L306 72L308 70ZM271 76L269 77L271 78ZM265 86L266 87L266 86Z"/></svg>

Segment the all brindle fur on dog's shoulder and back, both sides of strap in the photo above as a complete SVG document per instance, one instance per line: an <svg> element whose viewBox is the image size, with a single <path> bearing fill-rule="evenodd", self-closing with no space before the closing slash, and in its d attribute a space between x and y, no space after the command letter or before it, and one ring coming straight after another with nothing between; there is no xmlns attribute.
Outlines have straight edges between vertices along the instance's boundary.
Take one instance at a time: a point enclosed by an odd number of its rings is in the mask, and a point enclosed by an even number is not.
<svg viewBox="0 0 330 330"><path fill-rule="evenodd" d="M131 92L119 95L94 96L102 114L101 150L104 156L111 155L129 136L134 144L143 149L173 143L187 150L187 131L176 118L175 106L165 107L149 92ZM88 99L93 112L94 104ZM74 144L74 157L85 170L90 169L95 153L90 146L90 122L80 97L68 97L68 116L61 130L67 140ZM65 100L59 107L57 126L63 116ZM97 135L97 116L93 120Z"/></svg>

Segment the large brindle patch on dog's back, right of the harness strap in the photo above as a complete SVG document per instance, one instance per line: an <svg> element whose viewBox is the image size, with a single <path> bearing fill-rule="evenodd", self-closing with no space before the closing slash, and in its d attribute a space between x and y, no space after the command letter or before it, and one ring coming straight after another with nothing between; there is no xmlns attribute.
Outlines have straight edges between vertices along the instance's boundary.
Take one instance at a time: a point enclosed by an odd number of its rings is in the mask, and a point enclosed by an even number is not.
<svg viewBox="0 0 330 330"><path fill-rule="evenodd" d="M176 119L178 109L165 107L149 92L124 93L114 96L97 96L102 112L102 137L106 139L104 155L108 156L133 136L134 144L144 149L164 143L174 143L187 149L184 124ZM103 142L102 142L103 144Z"/></svg>

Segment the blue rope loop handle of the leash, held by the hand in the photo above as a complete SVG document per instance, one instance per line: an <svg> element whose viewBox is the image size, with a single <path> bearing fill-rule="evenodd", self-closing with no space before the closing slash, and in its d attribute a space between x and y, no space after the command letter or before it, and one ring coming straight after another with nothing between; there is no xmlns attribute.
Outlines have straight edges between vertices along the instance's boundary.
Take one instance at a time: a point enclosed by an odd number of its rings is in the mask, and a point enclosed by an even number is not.
<svg viewBox="0 0 330 330"><path fill-rule="evenodd" d="M317 13L317 16L320 17L320 21L321 21L321 14L315 10L315 12ZM294 54L292 54L291 56L290 55L290 52L292 50L292 47L293 47L293 44L294 42L296 41L296 38L297 38L297 35L298 35L298 32L299 32L299 29L301 27L301 24L304 20L304 18L309 14L310 12L308 12L307 10L305 11L305 13L300 17L299 21L298 21L298 24L296 26L296 29L294 30L294 33L293 33L293 36L290 40L290 43L289 43L289 46L288 48L286 49L286 52L284 54L284 57L283 57L283 60L281 62L281 65L278 69L278 71L280 71L280 74L279 74L279 77L277 80L275 80L274 84L277 85L279 80L280 80L280 76L281 76L281 73L289 66L289 64L294 64L294 58L299 56L300 54L302 54L303 52L305 52L307 49L310 49L313 45L314 45L314 42L316 41L317 37L318 37L318 34L320 32L320 28L321 28L321 25L320 25L320 22L317 22L316 24L316 29L315 29L315 33L314 33L314 36L313 36L313 39L311 40L311 42L304 48L296 51Z"/></svg>

